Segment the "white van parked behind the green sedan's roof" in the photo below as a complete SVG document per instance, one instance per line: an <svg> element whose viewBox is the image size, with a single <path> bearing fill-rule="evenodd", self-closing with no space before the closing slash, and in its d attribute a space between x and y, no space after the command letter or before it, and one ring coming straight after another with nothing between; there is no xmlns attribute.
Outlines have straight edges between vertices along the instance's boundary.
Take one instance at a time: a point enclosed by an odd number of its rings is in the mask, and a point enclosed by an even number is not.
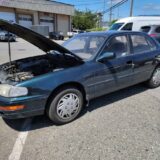
<svg viewBox="0 0 160 160"><path fill-rule="evenodd" d="M160 16L138 16L122 18L114 23L110 30L140 31L142 26L160 25Z"/></svg>

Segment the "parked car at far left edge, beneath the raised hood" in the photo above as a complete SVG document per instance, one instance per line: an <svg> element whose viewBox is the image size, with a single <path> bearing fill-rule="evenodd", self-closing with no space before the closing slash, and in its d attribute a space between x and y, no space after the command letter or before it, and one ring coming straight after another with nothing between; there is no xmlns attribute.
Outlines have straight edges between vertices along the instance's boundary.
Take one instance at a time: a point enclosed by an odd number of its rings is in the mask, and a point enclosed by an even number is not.
<svg viewBox="0 0 160 160"><path fill-rule="evenodd" d="M16 36L12 33L8 33L7 31L0 29L0 41L15 42Z"/></svg>

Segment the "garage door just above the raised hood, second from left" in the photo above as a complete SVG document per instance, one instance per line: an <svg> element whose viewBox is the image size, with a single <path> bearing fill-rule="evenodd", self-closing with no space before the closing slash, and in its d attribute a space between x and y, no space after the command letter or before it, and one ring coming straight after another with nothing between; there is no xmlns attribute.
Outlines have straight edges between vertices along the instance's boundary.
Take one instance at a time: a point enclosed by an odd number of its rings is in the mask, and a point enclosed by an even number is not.
<svg viewBox="0 0 160 160"><path fill-rule="evenodd" d="M33 25L33 18L31 15L19 14L18 21L20 25L27 28L30 28Z"/></svg>

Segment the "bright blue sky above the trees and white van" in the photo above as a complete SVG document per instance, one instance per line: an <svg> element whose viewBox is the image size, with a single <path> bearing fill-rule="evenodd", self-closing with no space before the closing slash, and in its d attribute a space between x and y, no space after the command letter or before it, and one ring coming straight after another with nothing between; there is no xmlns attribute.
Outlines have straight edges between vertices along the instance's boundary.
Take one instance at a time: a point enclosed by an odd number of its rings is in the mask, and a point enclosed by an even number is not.
<svg viewBox="0 0 160 160"><path fill-rule="evenodd" d="M58 2L75 5L78 10L91 10L101 12L111 6L111 0L56 0ZM112 0L116 4L121 0ZM112 19L128 17L130 11L130 0L113 10ZM133 15L160 15L160 0L134 0ZM109 13L103 17L104 21L109 20Z"/></svg>

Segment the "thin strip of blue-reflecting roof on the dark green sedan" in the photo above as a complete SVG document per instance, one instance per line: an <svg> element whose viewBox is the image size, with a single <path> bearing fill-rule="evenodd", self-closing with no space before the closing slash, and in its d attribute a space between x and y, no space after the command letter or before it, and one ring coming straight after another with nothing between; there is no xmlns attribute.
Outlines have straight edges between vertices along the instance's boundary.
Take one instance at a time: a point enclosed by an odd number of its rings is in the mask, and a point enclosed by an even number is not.
<svg viewBox="0 0 160 160"><path fill-rule="evenodd" d="M88 36L109 37L109 36L116 35L116 34L143 34L143 35L146 35L145 33L136 32L136 31L113 31L112 30L112 31L86 32L86 33L78 34L77 36L88 35Z"/></svg>

